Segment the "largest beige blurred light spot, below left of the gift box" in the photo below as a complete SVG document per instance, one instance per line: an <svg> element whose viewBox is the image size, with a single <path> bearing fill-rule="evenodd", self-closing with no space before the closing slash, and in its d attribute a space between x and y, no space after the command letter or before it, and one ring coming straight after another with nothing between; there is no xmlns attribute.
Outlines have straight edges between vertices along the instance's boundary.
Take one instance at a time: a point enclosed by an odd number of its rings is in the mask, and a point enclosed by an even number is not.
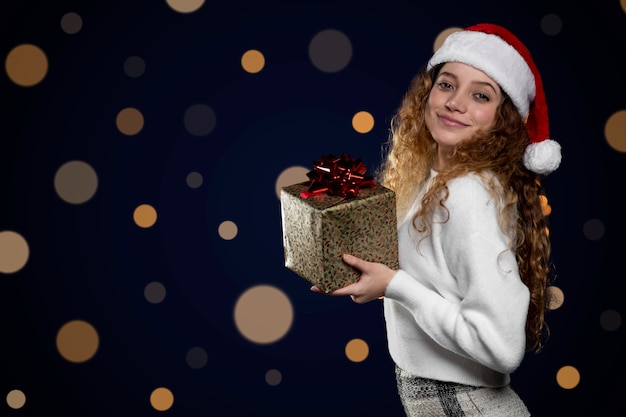
<svg viewBox="0 0 626 417"><path fill-rule="evenodd" d="M234 311L237 330L259 344L282 339L293 323L293 307L287 295L270 285L257 285L237 300Z"/></svg>

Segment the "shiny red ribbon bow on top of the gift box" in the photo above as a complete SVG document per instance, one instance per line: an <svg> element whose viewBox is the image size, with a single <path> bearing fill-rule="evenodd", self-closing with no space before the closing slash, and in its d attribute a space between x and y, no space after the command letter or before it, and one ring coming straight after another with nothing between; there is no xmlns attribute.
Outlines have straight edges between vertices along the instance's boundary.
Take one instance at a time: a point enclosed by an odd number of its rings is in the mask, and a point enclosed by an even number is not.
<svg viewBox="0 0 626 417"><path fill-rule="evenodd" d="M352 159L345 153L340 157L333 154L322 155L313 162L313 170L306 175L311 180L309 189L300 193L300 197L328 193L341 197L356 197L361 187L376 186L371 176L366 176L367 167L361 158Z"/></svg>

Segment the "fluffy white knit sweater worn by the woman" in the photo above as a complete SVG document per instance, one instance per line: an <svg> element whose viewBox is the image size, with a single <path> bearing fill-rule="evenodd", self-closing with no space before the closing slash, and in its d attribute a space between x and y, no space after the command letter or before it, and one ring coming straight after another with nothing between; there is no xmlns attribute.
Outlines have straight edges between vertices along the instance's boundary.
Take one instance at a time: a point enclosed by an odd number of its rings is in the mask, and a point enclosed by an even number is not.
<svg viewBox="0 0 626 417"><path fill-rule="evenodd" d="M434 221L430 237L419 242L411 224L423 191L398 226L400 269L384 298L389 352L422 378L504 386L525 354L529 291L481 180L448 188L449 220Z"/></svg>

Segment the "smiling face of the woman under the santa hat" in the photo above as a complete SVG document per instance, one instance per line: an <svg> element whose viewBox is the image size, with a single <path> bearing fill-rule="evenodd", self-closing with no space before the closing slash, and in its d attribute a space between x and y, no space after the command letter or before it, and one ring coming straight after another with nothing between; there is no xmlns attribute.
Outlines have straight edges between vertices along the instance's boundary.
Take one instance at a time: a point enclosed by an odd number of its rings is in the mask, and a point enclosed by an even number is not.
<svg viewBox="0 0 626 417"><path fill-rule="evenodd" d="M426 126L440 150L489 129L502 101L498 84L484 72L458 62L444 64L426 104Z"/></svg>

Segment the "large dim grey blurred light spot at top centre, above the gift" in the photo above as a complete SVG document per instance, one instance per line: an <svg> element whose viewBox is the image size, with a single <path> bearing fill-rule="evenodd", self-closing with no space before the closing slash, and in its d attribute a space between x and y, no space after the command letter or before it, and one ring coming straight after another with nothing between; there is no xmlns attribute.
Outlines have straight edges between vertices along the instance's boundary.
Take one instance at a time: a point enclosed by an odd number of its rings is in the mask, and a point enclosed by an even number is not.
<svg viewBox="0 0 626 417"><path fill-rule="evenodd" d="M318 32L309 43L309 59L320 71L341 71L352 59L350 39L335 29Z"/></svg>

